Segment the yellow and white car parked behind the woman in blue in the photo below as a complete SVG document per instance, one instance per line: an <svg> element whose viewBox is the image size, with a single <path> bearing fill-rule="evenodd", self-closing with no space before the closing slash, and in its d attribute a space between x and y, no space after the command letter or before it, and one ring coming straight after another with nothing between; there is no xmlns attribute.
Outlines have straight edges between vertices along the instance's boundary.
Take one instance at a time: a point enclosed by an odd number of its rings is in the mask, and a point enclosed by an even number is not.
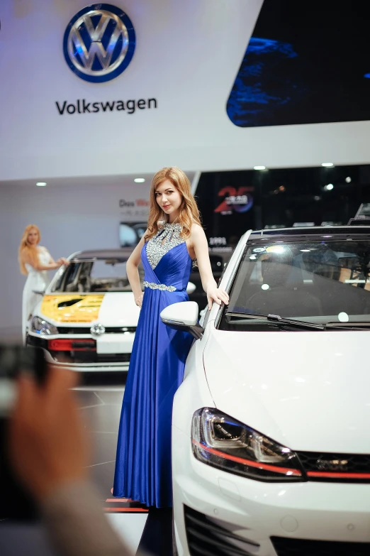
<svg viewBox="0 0 370 556"><path fill-rule="evenodd" d="M28 322L26 344L54 365L127 371L140 309L125 271L132 249L80 251L60 268ZM140 274L140 279L142 278Z"/></svg>

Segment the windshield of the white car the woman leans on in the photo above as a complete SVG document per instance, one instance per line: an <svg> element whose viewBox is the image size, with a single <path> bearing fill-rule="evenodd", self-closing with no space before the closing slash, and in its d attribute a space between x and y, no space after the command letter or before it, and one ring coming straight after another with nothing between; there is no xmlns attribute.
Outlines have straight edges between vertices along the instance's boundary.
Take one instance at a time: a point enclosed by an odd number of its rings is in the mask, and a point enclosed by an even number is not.
<svg viewBox="0 0 370 556"><path fill-rule="evenodd" d="M366 240L247 244L220 327L256 324L245 324L242 318L236 322L236 317L225 316L227 312L320 324L370 322L369 261Z"/></svg>

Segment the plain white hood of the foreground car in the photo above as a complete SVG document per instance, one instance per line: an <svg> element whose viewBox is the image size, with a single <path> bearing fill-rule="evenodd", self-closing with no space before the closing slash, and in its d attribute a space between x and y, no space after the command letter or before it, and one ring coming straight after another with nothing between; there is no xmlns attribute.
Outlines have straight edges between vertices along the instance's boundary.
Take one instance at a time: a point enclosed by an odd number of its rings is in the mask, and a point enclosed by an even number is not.
<svg viewBox="0 0 370 556"><path fill-rule="evenodd" d="M370 331L223 332L203 353L216 408L291 449L370 453Z"/></svg>

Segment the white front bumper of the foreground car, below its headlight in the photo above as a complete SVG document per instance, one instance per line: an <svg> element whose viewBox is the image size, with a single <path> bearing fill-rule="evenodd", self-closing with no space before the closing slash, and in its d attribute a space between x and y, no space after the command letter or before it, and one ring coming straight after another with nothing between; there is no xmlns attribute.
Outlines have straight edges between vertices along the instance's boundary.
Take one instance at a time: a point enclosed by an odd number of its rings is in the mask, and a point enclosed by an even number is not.
<svg viewBox="0 0 370 556"><path fill-rule="evenodd" d="M179 556L293 556L294 543L302 556L342 554L338 541L352 543L348 553L370 553L370 484L245 479L198 462L189 435L174 426L172 454Z"/></svg>

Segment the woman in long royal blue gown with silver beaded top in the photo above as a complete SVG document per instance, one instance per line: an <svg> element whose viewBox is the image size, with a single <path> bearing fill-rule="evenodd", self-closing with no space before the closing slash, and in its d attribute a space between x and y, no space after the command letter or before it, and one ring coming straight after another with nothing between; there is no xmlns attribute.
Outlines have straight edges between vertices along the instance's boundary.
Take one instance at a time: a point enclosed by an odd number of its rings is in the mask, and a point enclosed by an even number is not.
<svg viewBox="0 0 370 556"><path fill-rule="evenodd" d="M147 231L126 267L141 311L120 415L113 484L113 496L157 508L172 506L172 403L193 341L189 333L165 326L159 315L164 307L189 300L186 285L195 258L208 307L213 301L228 303L228 294L217 288L212 276L190 182L179 168L162 168L152 180Z"/></svg>

